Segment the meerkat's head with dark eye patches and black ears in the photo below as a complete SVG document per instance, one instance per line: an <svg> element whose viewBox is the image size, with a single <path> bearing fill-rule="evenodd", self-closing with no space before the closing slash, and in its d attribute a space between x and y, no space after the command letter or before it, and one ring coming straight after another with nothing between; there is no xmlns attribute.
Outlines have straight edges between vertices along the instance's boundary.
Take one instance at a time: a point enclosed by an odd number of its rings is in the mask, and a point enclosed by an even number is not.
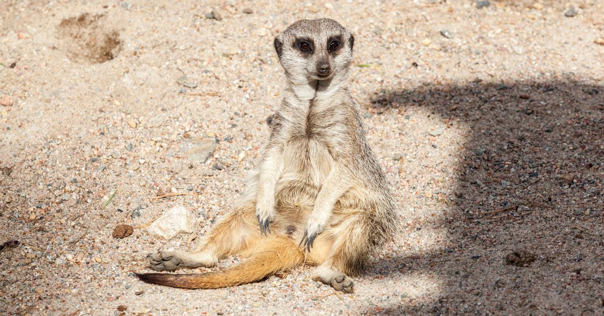
<svg viewBox="0 0 604 316"><path fill-rule="evenodd" d="M275 37L275 51L294 80L327 80L345 74L355 37L332 19L300 20Z"/></svg>

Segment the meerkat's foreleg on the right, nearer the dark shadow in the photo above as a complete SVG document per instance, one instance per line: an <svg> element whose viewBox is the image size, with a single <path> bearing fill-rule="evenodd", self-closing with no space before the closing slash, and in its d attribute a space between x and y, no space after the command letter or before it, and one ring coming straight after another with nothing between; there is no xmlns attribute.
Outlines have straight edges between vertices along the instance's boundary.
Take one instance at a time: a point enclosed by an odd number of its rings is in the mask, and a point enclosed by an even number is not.
<svg viewBox="0 0 604 316"><path fill-rule="evenodd" d="M350 181L348 181L342 172L339 172L337 166L333 167L329 175L327 175L319 194L316 196L315 206L312 209L312 213L310 213L310 218L306 223L306 230L304 230L304 236L300 241L300 245L303 248L307 248L310 251L316 236L329 224L333 206L348 189L350 189Z"/></svg>

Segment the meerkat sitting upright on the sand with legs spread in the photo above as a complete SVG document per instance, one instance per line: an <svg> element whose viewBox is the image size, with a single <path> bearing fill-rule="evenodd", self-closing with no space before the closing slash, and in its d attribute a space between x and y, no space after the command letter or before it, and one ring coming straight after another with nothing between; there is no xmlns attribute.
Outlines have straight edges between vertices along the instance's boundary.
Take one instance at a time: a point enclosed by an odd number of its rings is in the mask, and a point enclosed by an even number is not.
<svg viewBox="0 0 604 316"><path fill-rule="evenodd" d="M353 292L370 253L391 239L397 204L349 92L355 38L332 19L301 20L274 40L283 102L240 205L191 253L149 254L150 268L238 265L203 274L138 274L144 282L210 289L256 282L308 263L313 280Z"/></svg>

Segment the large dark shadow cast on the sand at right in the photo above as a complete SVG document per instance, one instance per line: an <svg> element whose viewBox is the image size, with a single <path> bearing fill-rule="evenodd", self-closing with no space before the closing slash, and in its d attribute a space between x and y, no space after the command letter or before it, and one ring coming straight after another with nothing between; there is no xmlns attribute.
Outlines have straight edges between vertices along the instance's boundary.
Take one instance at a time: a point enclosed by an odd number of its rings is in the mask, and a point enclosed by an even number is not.
<svg viewBox="0 0 604 316"><path fill-rule="evenodd" d="M371 107L382 115L422 107L472 134L439 219L452 252L374 267L401 278L430 271L444 290L427 304L393 298L361 314L604 314L604 86L427 85L385 91ZM535 262L506 264L516 250L536 254Z"/></svg>

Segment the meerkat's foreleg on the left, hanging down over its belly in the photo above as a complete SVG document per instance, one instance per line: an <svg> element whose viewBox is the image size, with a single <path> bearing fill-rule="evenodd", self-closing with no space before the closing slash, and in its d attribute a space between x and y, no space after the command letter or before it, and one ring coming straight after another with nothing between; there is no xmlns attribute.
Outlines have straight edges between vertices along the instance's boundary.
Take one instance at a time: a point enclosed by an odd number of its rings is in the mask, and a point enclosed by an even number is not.
<svg viewBox="0 0 604 316"><path fill-rule="evenodd" d="M256 218L262 234L271 233L269 224L275 218L275 189L283 171L280 150L274 146L266 150L260 164L258 192L256 195Z"/></svg>

